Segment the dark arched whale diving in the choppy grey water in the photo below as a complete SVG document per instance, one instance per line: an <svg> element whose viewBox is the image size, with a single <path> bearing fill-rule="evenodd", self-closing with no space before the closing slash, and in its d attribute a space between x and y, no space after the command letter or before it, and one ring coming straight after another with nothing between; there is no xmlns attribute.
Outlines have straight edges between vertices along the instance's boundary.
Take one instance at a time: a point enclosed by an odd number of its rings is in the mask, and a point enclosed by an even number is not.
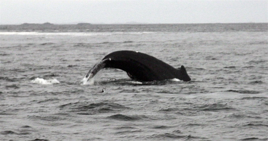
<svg viewBox="0 0 268 141"><path fill-rule="evenodd" d="M137 81L161 81L174 78L183 81L191 80L183 65L176 69L151 55L128 50L115 51L106 55L89 70L84 79L89 81L103 68L121 69L127 72L131 79Z"/></svg>

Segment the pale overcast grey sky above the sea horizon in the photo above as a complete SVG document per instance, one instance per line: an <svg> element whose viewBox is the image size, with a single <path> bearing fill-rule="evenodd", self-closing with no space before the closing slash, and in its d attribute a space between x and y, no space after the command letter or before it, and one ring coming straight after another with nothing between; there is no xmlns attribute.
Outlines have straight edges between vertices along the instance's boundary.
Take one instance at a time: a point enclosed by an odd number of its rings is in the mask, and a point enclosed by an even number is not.
<svg viewBox="0 0 268 141"><path fill-rule="evenodd" d="M268 1L0 1L0 23L268 22Z"/></svg>

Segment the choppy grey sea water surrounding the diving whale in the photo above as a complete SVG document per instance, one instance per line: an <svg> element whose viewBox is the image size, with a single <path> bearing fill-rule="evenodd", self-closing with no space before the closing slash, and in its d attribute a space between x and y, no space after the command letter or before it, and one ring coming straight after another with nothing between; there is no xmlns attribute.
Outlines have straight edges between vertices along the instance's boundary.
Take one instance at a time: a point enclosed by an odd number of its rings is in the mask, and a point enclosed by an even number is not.
<svg viewBox="0 0 268 141"><path fill-rule="evenodd" d="M268 24L1 25L0 140L268 140ZM152 55L191 81L93 65ZM106 88L104 93L99 93Z"/></svg>

